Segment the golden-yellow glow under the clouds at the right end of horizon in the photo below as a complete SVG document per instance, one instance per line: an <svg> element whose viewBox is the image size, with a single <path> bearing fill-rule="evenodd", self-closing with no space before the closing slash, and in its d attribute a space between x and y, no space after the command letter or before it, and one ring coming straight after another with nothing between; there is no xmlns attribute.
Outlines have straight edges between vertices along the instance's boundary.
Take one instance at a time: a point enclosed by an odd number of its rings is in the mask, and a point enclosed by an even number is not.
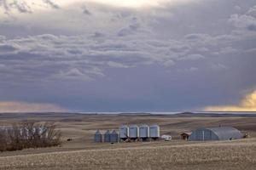
<svg viewBox="0 0 256 170"><path fill-rule="evenodd" d="M256 111L256 90L247 94L239 105L208 106L204 111Z"/></svg>

